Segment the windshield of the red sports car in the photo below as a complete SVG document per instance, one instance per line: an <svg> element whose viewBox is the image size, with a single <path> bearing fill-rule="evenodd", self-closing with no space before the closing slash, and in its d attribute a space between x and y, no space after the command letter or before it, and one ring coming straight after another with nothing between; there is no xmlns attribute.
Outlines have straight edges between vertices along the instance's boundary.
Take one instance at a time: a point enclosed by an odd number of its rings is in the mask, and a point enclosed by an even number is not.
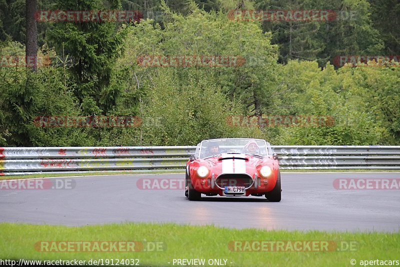
<svg viewBox="0 0 400 267"><path fill-rule="evenodd" d="M206 158L221 153L249 153L267 156L267 142L261 139L212 139L200 144L199 157Z"/></svg>

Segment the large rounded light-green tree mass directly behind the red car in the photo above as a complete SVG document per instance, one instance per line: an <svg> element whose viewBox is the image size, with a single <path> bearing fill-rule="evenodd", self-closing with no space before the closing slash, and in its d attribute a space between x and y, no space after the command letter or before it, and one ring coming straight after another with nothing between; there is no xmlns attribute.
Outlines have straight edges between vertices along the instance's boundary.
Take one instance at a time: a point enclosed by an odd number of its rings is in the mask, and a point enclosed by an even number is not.
<svg viewBox="0 0 400 267"><path fill-rule="evenodd" d="M202 138L260 137L259 129L230 127L227 119L247 110L262 112L263 105L273 102L268 94L274 87L269 85L278 66L277 47L270 44L270 35L263 34L255 23L232 21L222 12L208 13L192 5L190 13L183 16L164 7L168 20L163 28L151 21L129 27L120 59L120 65L131 64L133 86L127 89L147 92L140 140L195 144ZM232 56L237 64L157 67L159 63L138 63L141 56L164 55ZM241 64L239 58L248 61Z"/></svg>

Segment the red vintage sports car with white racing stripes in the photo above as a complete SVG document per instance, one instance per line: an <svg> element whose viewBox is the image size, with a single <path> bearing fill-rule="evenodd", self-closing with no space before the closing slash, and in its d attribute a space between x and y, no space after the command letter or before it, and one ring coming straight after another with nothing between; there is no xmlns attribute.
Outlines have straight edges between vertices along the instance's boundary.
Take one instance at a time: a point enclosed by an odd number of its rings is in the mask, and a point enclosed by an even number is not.
<svg viewBox="0 0 400 267"><path fill-rule="evenodd" d="M203 140L186 163L185 196L262 196L280 201L278 157L262 139Z"/></svg>

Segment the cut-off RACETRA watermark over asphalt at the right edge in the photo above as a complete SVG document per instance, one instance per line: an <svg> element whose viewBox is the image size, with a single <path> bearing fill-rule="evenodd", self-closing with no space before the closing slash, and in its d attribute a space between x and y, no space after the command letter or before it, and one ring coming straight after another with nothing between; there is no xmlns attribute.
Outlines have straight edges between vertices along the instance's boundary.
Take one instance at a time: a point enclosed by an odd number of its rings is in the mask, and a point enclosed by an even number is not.
<svg viewBox="0 0 400 267"><path fill-rule="evenodd" d="M337 178L333 180L335 189L377 189L399 190L400 178Z"/></svg>

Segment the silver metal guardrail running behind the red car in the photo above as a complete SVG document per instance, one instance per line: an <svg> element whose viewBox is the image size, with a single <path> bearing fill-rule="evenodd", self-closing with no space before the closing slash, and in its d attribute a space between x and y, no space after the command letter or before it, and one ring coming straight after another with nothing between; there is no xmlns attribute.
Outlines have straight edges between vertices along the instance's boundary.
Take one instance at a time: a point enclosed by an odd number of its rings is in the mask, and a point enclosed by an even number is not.
<svg viewBox="0 0 400 267"><path fill-rule="evenodd" d="M183 170L195 146L0 147L0 175ZM400 146L272 146L282 169L400 169Z"/></svg>

